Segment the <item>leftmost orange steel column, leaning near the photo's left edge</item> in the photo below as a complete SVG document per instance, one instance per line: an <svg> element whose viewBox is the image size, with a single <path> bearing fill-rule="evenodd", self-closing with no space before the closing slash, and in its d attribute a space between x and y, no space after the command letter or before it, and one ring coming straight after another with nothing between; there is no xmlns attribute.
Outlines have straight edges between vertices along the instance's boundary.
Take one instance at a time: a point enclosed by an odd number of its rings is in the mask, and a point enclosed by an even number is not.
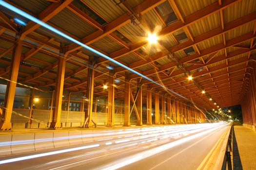
<svg viewBox="0 0 256 170"><path fill-rule="evenodd" d="M15 44L12 53L12 61L10 66L10 71L8 75L8 82L6 87L6 93L3 104L3 113L2 116L4 118L0 123L0 130L7 131L12 129L11 117L13 110L13 103L15 98L15 90L16 84L19 74L20 68L20 58L21 58L21 48L22 48L22 40L19 39L20 35L16 35Z"/></svg>

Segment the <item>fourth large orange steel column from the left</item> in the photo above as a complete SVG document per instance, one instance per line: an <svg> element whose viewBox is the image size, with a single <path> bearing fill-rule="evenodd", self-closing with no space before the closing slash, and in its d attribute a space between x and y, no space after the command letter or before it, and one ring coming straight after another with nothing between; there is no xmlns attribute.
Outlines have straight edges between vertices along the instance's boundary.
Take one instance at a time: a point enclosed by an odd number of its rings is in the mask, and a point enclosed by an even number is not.
<svg viewBox="0 0 256 170"><path fill-rule="evenodd" d="M109 73L109 89L108 89L108 119L107 127L113 127L115 124L115 87L114 74Z"/></svg>

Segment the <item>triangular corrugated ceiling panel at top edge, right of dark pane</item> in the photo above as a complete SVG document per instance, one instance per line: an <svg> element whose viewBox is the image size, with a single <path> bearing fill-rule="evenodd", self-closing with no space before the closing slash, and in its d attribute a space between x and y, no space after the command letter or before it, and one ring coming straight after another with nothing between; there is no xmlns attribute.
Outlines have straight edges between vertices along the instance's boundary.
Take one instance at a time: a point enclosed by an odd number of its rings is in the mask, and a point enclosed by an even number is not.
<svg viewBox="0 0 256 170"><path fill-rule="evenodd" d="M217 0L178 0L176 3L183 17L187 17L214 2Z"/></svg>

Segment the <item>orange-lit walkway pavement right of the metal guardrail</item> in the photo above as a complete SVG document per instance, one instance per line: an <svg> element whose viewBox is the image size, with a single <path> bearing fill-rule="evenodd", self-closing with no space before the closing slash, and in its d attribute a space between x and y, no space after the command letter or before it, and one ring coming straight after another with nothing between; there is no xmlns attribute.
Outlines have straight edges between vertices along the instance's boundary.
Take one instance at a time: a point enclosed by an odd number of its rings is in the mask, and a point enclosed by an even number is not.
<svg viewBox="0 0 256 170"><path fill-rule="evenodd" d="M256 170L256 132L235 125L234 133L233 170Z"/></svg>

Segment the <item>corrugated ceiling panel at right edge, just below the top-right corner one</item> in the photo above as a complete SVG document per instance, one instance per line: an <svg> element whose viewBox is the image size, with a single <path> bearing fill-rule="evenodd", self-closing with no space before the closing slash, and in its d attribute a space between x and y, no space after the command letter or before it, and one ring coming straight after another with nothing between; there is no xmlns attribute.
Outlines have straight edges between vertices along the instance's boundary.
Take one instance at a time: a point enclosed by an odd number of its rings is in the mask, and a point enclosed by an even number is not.
<svg viewBox="0 0 256 170"><path fill-rule="evenodd" d="M241 27L238 27L234 30L231 30L225 34L226 41L234 39L237 36L241 36L247 33L252 32L254 29L254 23L251 22L249 24L243 25Z"/></svg>

